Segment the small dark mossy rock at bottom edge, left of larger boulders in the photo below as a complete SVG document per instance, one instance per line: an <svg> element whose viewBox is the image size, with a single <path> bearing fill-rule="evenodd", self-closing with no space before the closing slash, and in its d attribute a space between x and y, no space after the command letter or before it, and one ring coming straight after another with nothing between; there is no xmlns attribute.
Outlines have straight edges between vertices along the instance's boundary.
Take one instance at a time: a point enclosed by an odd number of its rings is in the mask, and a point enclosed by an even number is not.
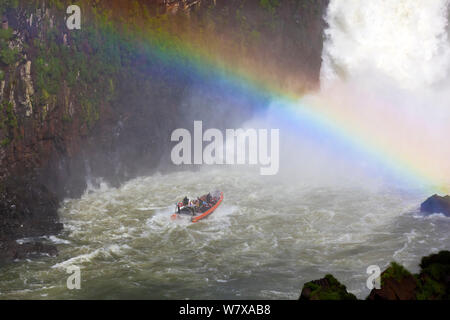
<svg viewBox="0 0 450 320"><path fill-rule="evenodd" d="M303 285L299 300L356 300L355 295L331 274Z"/></svg>

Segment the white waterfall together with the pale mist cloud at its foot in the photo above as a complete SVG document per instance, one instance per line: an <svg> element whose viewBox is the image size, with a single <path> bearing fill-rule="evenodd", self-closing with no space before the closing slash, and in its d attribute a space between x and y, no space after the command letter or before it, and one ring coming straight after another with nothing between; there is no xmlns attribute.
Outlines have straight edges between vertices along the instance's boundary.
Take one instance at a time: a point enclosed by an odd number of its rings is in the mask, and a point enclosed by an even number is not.
<svg viewBox="0 0 450 320"><path fill-rule="evenodd" d="M245 124L281 128L283 179L430 191L448 186L448 4L330 2L321 89L297 103L272 101Z"/></svg>

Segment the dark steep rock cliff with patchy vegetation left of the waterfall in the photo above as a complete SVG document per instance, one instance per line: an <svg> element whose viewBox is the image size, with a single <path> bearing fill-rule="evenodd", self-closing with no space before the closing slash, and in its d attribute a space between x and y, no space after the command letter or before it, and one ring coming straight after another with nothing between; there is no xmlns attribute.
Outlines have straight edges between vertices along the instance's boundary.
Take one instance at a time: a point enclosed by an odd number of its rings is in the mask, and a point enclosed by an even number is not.
<svg viewBox="0 0 450 320"><path fill-rule="evenodd" d="M59 232L59 201L88 182L170 168L173 129L212 112L234 127L264 103L243 89L214 109L223 83L179 67L198 48L297 94L318 85L326 0L83 0L81 30L69 4L0 4L0 260L45 251L15 240Z"/></svg>

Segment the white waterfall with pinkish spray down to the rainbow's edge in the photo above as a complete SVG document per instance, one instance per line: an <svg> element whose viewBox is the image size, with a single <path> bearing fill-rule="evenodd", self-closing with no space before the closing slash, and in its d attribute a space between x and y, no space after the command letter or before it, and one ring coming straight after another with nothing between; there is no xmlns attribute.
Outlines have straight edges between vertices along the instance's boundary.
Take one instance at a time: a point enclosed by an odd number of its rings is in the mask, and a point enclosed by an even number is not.
<svg viewBox="0 0 450 320"><path fill-rule="evenodd" d="M381 157L441 187L450 181L449 4L331 0L319 94L361 128L376 123L368 137Z"/></svg>

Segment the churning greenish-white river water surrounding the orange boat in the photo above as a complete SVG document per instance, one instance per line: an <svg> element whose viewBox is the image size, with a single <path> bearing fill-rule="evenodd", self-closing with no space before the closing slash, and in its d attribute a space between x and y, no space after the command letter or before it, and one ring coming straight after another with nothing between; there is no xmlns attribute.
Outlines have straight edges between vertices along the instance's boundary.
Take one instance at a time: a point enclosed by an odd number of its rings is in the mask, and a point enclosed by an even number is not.
<svg viewBox="0 0 450 320"><path fill-rule="evenodd" d="M225 199L209 218L170 219L180 197L215 189ZM326 273L364 298L368 266L415 272L421 256L448 249L450 219L421 216L423 197L225 168L102 184L62 203L65 230L46 238L57 257L2 268L0 298L297 299ZM80 290L67 289L69 266Z"/></svg>

